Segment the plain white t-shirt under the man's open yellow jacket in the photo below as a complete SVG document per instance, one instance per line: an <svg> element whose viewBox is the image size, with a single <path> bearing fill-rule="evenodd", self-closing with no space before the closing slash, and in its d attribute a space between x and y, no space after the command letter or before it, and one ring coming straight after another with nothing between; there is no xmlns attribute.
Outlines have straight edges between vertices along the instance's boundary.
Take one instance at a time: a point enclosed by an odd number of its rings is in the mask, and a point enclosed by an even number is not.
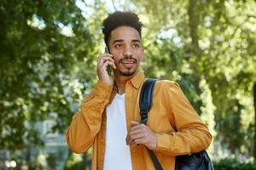
<svg viewBox="0 0 256 170"><path fill-rule="evenodd" d="M126 145L125 94L116 94L107 106L106 149L104 170L131 170L131 151Z"/></svg>

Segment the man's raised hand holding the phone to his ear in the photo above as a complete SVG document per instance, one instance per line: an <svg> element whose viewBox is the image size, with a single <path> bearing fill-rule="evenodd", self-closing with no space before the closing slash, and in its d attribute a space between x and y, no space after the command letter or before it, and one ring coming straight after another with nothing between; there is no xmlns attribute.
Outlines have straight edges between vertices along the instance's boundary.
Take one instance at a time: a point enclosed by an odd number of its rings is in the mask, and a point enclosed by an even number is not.
<svg viewBox="0 0 256 170"><path fill-rule="evenodd" d="M113 69L116 69L112 57L112 54L102 54L98 58L97 75L99 80L106 82L108 85L113 84L113 77L108 75L107 67L110 65Z"/></svg>

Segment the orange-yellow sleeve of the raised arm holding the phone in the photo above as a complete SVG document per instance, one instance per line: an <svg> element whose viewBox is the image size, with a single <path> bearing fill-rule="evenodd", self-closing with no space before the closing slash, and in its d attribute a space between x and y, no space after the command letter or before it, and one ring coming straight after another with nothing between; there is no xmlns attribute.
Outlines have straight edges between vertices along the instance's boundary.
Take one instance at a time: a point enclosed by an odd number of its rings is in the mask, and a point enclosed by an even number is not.
<svg viewBox="0 0 256 170"><path fill-rule="evenodd" d="M108 104L113 86L96 83L96 88L83 101L81 110L73 116L66 140L70 150L83 153L93 144L102 124L102 113Z"/></svg>

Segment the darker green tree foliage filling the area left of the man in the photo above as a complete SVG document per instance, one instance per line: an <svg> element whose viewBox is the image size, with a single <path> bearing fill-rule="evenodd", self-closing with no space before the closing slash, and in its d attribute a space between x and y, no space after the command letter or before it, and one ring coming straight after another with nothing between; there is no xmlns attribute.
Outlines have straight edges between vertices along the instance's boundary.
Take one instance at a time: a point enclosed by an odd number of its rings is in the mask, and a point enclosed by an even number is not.
<svg viewBox="0 0 256 170"><path fill-rule="evenodd" d="M53 130L63 133L90 86L81 84L95 78L95 43L74 2L3 0L0 8L0 145L16 150L43 144L34 123L46 118L57 117Z"/></svg>

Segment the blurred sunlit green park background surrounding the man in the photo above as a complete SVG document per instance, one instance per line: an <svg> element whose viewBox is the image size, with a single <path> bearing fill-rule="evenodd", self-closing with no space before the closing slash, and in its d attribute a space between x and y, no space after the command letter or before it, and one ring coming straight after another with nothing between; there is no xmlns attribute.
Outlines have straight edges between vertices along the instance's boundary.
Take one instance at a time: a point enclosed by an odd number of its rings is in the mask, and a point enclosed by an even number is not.
<svg viewBox="0 0 256 170"><path fill-rule="evenodd" d="M147 77L180 84L216 169L256 169L255 0L0 0L0 169L90 169L64 134L94 87L102 20L143 22ZM254 101L254 102L253 102Z"/></svg>

